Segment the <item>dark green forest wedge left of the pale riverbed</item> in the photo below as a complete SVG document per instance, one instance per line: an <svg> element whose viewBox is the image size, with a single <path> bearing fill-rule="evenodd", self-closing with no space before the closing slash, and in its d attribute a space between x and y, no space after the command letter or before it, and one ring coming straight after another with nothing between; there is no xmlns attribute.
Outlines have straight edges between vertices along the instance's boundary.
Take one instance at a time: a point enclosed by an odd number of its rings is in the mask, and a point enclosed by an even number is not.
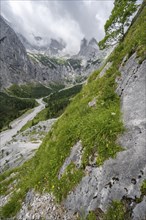
<svg viewBox="0 0 146 220"><path fill-rule="evenodd" d="M12 120L36 105L37 103L34 99L21 99L0 92L0 130L9 126Z"/></svg>

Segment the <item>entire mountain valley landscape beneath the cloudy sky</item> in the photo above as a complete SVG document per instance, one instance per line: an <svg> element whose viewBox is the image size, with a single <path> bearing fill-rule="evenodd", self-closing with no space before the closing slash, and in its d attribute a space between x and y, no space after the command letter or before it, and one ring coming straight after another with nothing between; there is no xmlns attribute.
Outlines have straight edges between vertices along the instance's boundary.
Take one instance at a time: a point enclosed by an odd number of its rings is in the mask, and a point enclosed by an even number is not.
<svg viewBox="0 0 146 220"><path fill-rule="evenodd" d="M145 15L74 55L0 16L1 219L146 220Z"/></svg>

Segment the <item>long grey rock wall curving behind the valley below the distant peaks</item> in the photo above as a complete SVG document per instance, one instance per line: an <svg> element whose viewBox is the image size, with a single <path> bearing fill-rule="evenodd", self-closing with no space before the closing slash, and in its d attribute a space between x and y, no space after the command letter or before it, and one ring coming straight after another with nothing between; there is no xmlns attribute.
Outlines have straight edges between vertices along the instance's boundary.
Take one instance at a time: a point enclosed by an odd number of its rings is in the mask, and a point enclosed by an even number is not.
<svg viewBox="0 0 146 220"><path fill-rule="evenodd" d="M14 30L0 16L0 90L12 84L24 84L30 82L41 82L43 84L59 83L69 84L76 82L76 79L84 80L94 69L100 66L101 59L94 57L94 61L86 66L75 67L77 59L71 58L73 64L57 64L50 61L49 65L44 65L39 60L31 59L26 52L26 48L16 35ZM39 52L39 51L38 51ZM101 55L99 53L99 55ZM97 54L96 54L97 56ZM49 59L49 57L48 57ZM103 56L102 56L103 59Z"/></svg>

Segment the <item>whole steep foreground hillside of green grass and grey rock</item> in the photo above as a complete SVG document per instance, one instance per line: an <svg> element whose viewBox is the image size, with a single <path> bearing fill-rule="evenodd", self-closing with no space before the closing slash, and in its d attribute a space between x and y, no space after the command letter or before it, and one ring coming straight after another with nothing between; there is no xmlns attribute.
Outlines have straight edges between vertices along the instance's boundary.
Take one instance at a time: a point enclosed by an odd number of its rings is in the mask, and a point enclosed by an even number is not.
<svg viewBox="0 0 146 220"><path fill-rule="evenodd" d="M84 219L93 211L89 219L145 220L145 14L144 1L109 63L90 76L34 158L1 176L2 191L9 198L2 216L18 213L18 219L26 214L41 218L45 213L46 219L57 219L54 203L56 216L52 217L48 194L45 203L49 207L43 207L43 213L34 210L34 201L37 206L44 201L44 195L32 195L34 188L53 193L70 219L77 215ZM7 179L11 173L16 177Z"/></svg>

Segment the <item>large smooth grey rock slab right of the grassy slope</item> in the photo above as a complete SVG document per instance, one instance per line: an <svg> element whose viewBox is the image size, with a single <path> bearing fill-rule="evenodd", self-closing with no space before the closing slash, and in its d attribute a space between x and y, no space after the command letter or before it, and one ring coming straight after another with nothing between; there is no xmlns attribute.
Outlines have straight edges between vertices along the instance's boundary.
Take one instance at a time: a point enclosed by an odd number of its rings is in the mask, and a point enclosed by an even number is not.
<svg viewBox="0 0 146 220"><path fill-rule="evenodd" d="M140 187L146 179L146 61L138 64L134 54L120 72L117 92L127 131L118 141L125 150L101 167L88 167L87 175L64 202L72 212L87 213L97 207L106 211L112 200L134 200L141 195ZM134 209L132 202L130 205Z"/></svg>

